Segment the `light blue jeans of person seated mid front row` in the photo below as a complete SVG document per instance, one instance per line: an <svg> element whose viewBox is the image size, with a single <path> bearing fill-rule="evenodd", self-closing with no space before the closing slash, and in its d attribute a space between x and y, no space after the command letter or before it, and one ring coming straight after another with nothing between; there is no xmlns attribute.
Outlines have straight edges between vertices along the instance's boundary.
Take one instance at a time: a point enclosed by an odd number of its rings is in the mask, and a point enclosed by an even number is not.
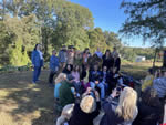
<svg viewBox="0 0 166 125"><path fill-rule="evenodd" d="M101 88L101 98L105 98L105 86L103 83L95 84L94 82L90 82L91 87L94 90L95 85Z"/></svg>

